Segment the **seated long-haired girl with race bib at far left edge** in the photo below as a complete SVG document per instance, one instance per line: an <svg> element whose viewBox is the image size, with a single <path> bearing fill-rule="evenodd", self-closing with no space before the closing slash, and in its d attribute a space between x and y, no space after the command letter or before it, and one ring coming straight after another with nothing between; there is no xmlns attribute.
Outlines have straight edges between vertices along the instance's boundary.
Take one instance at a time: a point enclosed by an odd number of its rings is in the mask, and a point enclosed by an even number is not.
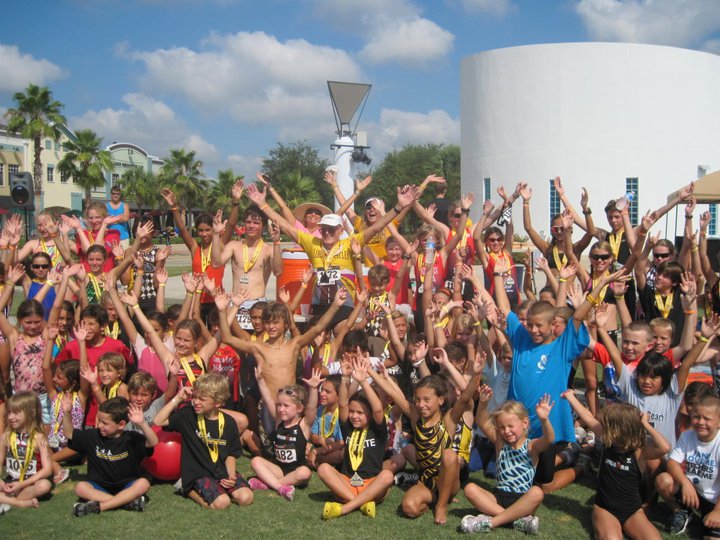
<svg viewBox="0 0 720 540"><path fill-rule="evenodd" d="M7 426L0 437L0 514L11 506L37 508L38 498L50 492L50 447L42 425L40 401L35 392L18 392L7 401Z"/></svg>

